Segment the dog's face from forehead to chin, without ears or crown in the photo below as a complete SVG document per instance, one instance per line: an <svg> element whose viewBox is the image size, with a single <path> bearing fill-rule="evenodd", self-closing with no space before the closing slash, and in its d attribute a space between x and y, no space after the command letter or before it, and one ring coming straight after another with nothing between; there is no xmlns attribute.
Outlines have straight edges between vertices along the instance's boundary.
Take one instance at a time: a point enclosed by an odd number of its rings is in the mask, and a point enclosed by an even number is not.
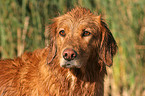
<svg viewBox="0 0 145 96"><path fill-rule="evenodd" d="M59 46L60 52L58 53L60 66L80 68L87 62L92 49L93 32L96 31L95 27L90 26L90 23L92 22L88 18L74 20L74 18L68 17L59 24L57 46Z"/></svg>

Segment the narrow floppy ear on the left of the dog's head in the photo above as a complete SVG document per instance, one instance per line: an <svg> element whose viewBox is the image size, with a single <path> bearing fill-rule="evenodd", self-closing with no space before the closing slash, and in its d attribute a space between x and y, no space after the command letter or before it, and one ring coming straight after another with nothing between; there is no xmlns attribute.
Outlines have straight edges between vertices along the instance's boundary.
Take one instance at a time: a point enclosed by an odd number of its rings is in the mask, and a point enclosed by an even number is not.
<svg viewBox="0 0 145 96"><path fill-rule="evenodd" d="M50 64L53 59L56 57L56 54L57 54L57 46L56 46L56 23L53 23L49 26L49 30L50 30L50 38L51 38L51 41L49 43L49 54L47 56L47 64Z"/></svg>

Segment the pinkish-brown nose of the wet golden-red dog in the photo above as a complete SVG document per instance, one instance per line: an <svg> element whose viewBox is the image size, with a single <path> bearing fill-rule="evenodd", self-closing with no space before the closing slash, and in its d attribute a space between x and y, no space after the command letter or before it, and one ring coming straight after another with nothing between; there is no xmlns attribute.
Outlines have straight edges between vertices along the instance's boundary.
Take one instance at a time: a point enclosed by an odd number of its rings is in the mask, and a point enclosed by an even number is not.
<svg viewBox="0 0 145 96"><path fill-rule="evenodd" d="M77 52L71 48L68 48L63 51L62 55L65 60L71 61L77 57Z"/></svg>

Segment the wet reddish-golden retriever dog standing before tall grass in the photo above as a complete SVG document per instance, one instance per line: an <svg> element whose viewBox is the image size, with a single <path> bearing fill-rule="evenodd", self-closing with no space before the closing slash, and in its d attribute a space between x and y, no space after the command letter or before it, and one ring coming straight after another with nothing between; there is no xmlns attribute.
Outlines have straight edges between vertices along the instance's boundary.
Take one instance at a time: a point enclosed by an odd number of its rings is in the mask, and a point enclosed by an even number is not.
<svg viewBox="0 0 145 96"><path fill-rule="evenodd" d="M47 29L48 47L0 61L1 96L103 96L117 44L101 16L76 7Z"/></svg>

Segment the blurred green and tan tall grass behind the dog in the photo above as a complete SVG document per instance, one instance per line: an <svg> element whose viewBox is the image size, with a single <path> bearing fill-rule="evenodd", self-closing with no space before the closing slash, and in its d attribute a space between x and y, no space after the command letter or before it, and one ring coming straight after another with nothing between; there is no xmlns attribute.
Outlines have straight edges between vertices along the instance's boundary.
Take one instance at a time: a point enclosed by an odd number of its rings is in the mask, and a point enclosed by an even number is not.
<svg viewBox="0 0 145 96"><path fill-rule="evenodd" d="M75 6L101 14L118 43L105 96L145 96L145 0L0 0L0 58L45 47L45 25Z"/></svg>

